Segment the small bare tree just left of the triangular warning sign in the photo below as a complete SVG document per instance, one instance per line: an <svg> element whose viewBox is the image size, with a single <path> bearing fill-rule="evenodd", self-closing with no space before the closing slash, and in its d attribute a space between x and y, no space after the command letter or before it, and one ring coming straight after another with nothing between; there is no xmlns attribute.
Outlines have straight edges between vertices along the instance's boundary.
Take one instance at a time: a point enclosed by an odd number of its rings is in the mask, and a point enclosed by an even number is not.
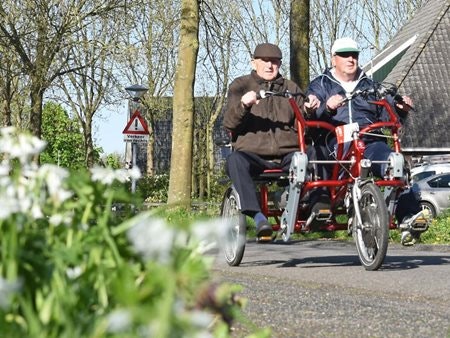
<svg viewBox="0 0 450 338"><path fill-rule="evenodd" d="M113 14L113 13L111 13ZM117 103L113 74L117 29L123 12L99 17L74 33L77 41L72 48L67 73L59 81L66 102L76 114L83 130L86 167L94 165L93 119L99 108ZM70 71L70 69L75 69ZM114 95L115 94L115 95Z"/></svg>

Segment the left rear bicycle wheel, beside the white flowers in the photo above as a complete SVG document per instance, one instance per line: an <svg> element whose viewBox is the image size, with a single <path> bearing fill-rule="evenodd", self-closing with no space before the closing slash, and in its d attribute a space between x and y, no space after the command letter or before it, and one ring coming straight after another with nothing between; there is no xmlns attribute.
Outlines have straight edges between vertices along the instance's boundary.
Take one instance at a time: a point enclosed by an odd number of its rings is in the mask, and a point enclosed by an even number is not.
<svg viewBox="0 0 450 338"><path fill-rule="evenodd" d="M221 216L226 221L226 238L224 243L225 260L230 266L238 266L244 256L247 222L239 209L239 196L233 188L224 195Z"/></svg>

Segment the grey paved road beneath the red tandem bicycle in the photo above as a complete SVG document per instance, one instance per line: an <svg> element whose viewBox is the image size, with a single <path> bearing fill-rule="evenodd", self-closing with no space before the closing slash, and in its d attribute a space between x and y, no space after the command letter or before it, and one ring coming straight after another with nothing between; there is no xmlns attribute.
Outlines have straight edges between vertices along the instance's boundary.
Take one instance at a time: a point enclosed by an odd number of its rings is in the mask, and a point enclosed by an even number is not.
<svg viewBox="0 0 450 338"><path fill-rule="evenodd" d="M244 287L245 313L272 337L450 338L448 246L390 245L371 272L352 242L249 242L239 267L218 254L215 273Z"/></svg>

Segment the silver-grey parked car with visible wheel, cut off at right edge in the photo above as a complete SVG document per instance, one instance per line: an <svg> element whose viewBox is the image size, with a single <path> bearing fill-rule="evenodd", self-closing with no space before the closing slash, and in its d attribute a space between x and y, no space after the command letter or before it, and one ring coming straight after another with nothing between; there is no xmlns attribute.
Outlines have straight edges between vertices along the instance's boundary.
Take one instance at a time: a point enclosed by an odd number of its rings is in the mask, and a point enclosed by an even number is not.
<svg viewBox="0 0 450 338"><path fill-rule="evenodd" d="M432 218L450 208L450 173L423 178L414 182L411 189Z"/></svg>

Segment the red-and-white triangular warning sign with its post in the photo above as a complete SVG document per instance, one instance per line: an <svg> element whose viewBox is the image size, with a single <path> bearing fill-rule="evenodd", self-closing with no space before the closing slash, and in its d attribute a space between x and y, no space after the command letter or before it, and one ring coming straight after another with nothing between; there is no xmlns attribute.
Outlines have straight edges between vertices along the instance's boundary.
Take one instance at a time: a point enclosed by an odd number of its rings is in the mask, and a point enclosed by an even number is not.
<svg viewBox="0 0 450 338"><path fill-rule="evenodd" d="M138 110L134 112L128 121L125 129L122 131L123 140L125 142L131 142L131 157L132 167L136 166L136 157L137 157L137 143L139 142L147 142L149 138L148 126L141 114ZM131 180L131 192L134 193L136 191L136 179L132 178Z"/></svg>

